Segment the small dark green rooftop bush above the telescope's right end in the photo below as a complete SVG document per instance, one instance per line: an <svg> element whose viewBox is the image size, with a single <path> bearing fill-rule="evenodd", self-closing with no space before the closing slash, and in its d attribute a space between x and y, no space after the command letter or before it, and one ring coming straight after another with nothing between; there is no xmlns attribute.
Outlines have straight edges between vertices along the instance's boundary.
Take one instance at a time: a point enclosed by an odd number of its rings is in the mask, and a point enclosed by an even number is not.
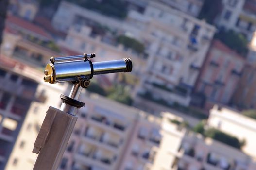
<svg viewBox="0 0 256 170"><path fill-rule="evenodd" d="M142 43L140 43L139 41L137 41L134 38L127 37L125 35L119 35L117 37L117 41L118 41L118 43L123 44L124 47L131 48L134 51L136 51L137 53L143 53L145 50L145 47Z"/></svg>

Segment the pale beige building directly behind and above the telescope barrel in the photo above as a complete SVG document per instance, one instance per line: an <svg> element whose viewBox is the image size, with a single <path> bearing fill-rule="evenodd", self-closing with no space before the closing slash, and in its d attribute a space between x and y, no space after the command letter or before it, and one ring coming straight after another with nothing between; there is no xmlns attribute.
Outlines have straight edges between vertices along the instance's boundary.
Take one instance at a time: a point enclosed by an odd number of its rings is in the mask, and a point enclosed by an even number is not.
<svg viewBox="0 0 256 170"><path fill-rule="evenodd" d="M92 59L94 62L131 58L133 61L133 71L130 74L120 76L123 76L125 80L129 80L126 83L131 85L132 88L137 87L139 78L145 72L147 62L143 59L143 54L137 54L132 49L127 49L123 45L118 44L113 39L112 34L95 34L93 28L86 25L70 27L65 40L59 41L58 45L62 48L76 51L80 55L95 53L96 57ZM107 75L111 81L116 76L116 74Z"/></svg>

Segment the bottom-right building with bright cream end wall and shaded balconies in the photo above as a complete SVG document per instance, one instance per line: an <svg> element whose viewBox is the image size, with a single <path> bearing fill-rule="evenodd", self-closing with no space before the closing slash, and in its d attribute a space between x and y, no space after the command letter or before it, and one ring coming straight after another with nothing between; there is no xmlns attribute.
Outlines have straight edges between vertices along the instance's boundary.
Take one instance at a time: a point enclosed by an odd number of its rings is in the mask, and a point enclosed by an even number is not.
<svg viewBox="0 0 256 170"><path fill-rule="evenodd" d="M163 114L162 140L152 170L255 170L253 158L239 149L188 132Z"/></svg>

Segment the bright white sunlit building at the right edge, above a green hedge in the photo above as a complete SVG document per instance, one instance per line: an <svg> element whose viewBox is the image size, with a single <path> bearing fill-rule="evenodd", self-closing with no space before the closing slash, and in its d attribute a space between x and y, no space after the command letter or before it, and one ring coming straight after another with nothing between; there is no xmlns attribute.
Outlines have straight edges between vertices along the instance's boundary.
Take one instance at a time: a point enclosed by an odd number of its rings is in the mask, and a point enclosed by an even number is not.
<svg viewBox="0 0 256 170"><path fill-rule="evenodd" d="M210 110L210 116L207 121L209 127L214 127L223 132L236 136L239 140L245 140L245 146L242 150L256 158L256 120L241 115L237 110L226 107L214 106Z"/></svg>

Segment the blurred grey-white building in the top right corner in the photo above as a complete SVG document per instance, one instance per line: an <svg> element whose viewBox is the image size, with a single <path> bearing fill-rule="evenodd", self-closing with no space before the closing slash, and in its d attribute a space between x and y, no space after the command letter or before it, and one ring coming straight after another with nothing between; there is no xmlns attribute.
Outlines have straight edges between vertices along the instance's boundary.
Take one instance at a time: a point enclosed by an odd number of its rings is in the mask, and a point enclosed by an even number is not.
<svg viewBox="0 0 256 170"><path fill-rule="evenodd" d="M255 0L222 0L222 13L217 25L252 38L256 30L256 1Z"/></svg>

